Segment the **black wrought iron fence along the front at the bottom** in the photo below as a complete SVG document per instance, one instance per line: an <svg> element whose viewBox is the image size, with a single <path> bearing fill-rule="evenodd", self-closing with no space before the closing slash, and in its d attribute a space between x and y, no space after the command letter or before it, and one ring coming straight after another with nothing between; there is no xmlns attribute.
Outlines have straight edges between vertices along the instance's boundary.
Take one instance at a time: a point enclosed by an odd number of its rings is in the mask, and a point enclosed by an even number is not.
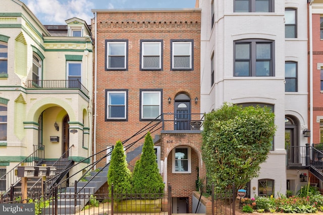
<svg viewBox="0 0 323 215"><path fill-rule="evenodd" d="M212 186L211 209L207 209L209 215L235 215L235 187L225 193L214 193ZM3 199L0 203L4 204ZM104 193L96 192L91 194L90 190L83 189L82 192L68 190L66 187L54 186L50 192L41 197L29 197L22 199L16 196L5 204L33 204L35 215L40 214L172 214L172 187L168 185L167 193L145 193L128 194L114 193L111 191ZM210 205L210 204L207 204ZM205 205L206 206L206 205ZM0 210L1 211L1 210Z"/></svg>

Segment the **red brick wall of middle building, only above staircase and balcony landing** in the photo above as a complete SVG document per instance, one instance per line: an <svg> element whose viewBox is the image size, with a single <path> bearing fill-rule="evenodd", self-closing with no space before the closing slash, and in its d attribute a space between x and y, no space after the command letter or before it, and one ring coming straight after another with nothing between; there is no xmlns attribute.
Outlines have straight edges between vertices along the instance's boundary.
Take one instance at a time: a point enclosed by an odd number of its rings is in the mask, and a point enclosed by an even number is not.
<svg viewBox="0 0 323 215"><path fill-rule="evenodd" d="M105 39L129 40L127 71L105 71ZM139 70L140 39L163 39L162 71ZM170 70L171 39L194 39L194 70ZM199 98L200 12L97 13L94 42L97 44L96 151L129 138L148 123L139 121L139 89L163 89L164 113L174 112L174 103L169 104L168 98L174 101L178 92L186 92L192 100ZM104 120L105 89L129 90L128 121ZM191 112L200 112L199 103L192 102Z"/></svg>

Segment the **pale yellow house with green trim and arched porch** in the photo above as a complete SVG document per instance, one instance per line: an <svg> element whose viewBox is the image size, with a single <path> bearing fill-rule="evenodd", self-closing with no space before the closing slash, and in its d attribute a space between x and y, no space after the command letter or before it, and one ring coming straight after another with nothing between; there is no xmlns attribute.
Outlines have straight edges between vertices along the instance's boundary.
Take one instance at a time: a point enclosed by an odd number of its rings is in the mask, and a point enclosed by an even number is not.
<svg viewBox="0 0 323 215"><path fill-rule="evenodd" d="M90 34L78 18L44 26L22 2L2 0L0 191L15 183L9 173L30 155L87 165L93 115Z"/></svg>

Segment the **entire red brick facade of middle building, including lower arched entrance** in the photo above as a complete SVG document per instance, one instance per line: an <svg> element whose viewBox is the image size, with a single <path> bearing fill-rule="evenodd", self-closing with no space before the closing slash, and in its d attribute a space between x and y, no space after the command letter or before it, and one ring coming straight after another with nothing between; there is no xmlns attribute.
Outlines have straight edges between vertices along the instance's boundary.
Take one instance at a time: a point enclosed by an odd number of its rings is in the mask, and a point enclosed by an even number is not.
<svg viewBox="0 0 323 215"><path fill-rule="evenodd" d="M149 122L139 121L140 118L140 89L163 89L163 112L174 112L174 98L184 92L191 98L191 113L200 113L200 12L196 11L133 11L133 12L102 12L97 13L97 38L94 42L97 47L97 101L96 101L96 152L106 146L115 145L117 140L125 140L139 131ZM92 21L92 35L94 21ZM128 70L105 70L105 40L128 40ZM163 40L163 70L140 71L140 40ZM171 70L171 40L187 39L193 43L194 70ZM95 69L95 68L94 68ZM105 121L105 89L128 90L128 121ZM168 98L172 98L171 104ZM200 116L196 115L197 120ZM168 127L173 129L173 125ZM146 131L145 131L146 132ZM144 135L141 133L140 136ZM159 134L160 130L152 133ZM172 143L167 139L172 138ZM132 143L136 139L128 142ZM144 139L135 143L132 149L143 144ZM205 177L205 168L201 164L201 135L198 134L163 134L161 135L161 161L168 158L168 181L172 185L172 195L189 197L192 202L192 191L195 191L197 167L200 176ZM192 148L192 173L172 173L172 150L176 146L187 145ZM132 169L134 161L129 164ZM190 203L190 212L191 203Z"/></svg>

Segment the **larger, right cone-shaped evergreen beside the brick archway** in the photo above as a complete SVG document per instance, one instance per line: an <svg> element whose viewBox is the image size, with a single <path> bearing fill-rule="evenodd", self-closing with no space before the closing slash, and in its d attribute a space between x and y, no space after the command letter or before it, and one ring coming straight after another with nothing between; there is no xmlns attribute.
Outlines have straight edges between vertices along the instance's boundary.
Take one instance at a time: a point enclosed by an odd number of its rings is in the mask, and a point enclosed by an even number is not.
<svg viewBox="0 0 323 215"><path fill-rule="evenodd" d="M134 193L160 193L165 184L159 174L155 150L150 132L145 136L140 160L136 162L133 172Z"/></svg>

